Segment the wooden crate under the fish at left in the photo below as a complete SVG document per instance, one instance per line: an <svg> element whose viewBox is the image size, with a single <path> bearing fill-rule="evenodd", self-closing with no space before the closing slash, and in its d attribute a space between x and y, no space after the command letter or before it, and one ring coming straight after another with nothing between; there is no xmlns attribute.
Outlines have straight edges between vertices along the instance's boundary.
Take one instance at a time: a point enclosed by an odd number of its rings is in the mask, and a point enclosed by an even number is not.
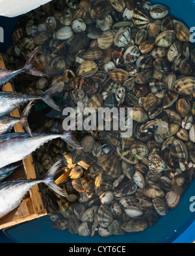
<svg viewBox="0 0 195 256"><path fill-rule="evenodd" d="M3 61L3 57L0 53L0 68L6 68L5 63ZM11 83L7 83L3 88L2 91L14 91L14 88ZM10 114L12 117L20 117L20 111L19 109L15 109ZM14 126L15 132L24 132L23 126L20 122ZM9 178L10 180L13 179L21 179L23 178L36 178L36 172L33 164L32 155L28 158L25 158L22 160L23 167L25 169L25 173L23 169L17 171L13 175L11 175ZM21 204L7 214L5 217L0 219L0 229L6 229L8 227L12 227L14 225L18 225L20 223L23 223L25 221L34 220L36 218L40 218L42 216L47 215L47 211L44 207L44 201L42 199L42 195L39 191L39 186L33 186L30 190L30 192L25 196Z"/></svg>

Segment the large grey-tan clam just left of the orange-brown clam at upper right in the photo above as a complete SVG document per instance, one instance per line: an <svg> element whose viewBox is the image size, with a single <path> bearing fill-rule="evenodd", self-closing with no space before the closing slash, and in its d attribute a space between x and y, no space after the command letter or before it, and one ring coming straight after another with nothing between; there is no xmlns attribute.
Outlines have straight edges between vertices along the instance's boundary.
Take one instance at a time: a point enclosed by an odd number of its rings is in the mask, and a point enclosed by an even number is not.
<svg viewBox="0 0 195 256"><path fill-rule="evenodd" d="M176 33L173 30L167 30L160 33L156 40L155 44L159 47L169 48L172 43L175 41Z"/></svg>

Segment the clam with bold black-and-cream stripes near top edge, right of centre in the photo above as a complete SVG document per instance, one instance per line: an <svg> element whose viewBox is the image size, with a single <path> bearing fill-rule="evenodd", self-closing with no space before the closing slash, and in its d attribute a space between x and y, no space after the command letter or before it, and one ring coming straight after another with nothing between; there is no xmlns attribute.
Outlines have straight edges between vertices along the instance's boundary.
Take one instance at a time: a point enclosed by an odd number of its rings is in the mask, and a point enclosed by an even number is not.
<svg viewBox="0 0 195 256"><path fill-rule="evenodd" d="M147 12L142 8L135 8L133 12L133 23L139 29L144 29L149 23L149 16Z"/></svg>

